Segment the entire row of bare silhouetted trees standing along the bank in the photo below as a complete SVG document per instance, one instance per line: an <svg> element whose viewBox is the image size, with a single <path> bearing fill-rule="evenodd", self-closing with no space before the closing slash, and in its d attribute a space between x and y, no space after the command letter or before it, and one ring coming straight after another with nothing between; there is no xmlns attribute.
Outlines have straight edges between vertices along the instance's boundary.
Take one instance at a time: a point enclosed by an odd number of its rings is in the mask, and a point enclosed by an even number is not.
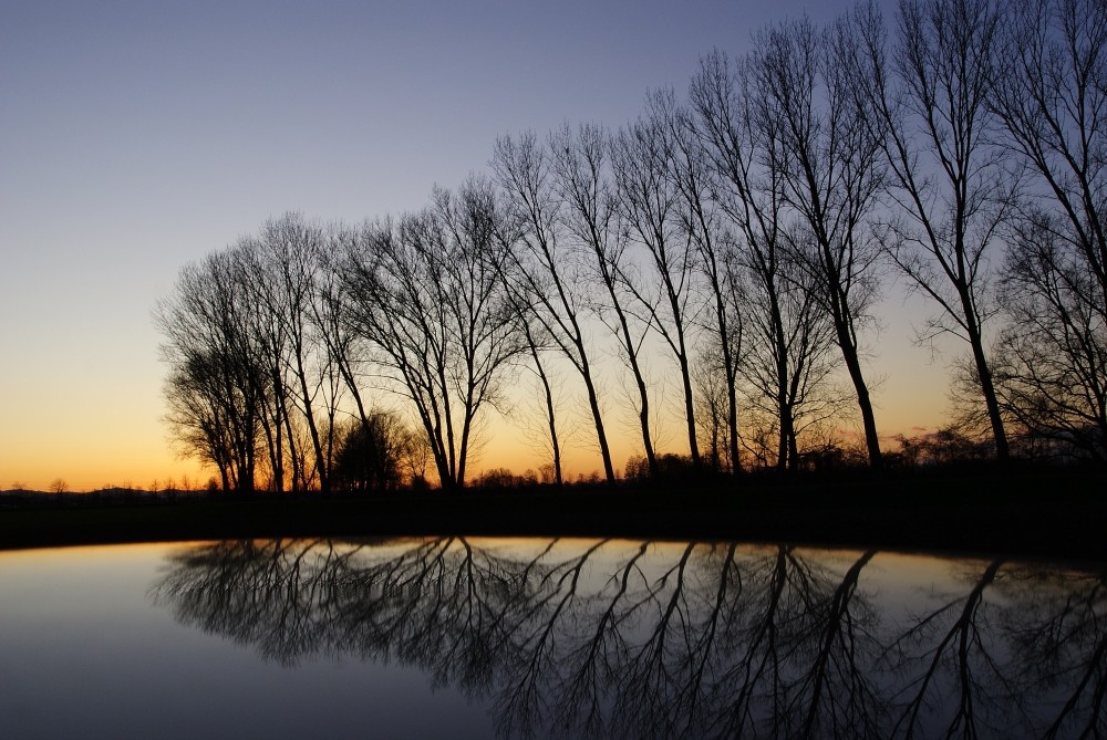
<svg viewBox="0 0 1107 740"><path fill-rule="evenodd" d="M228 490L428 467L459 489L529 368L552 482L570 444L613 482L613 428L654 478L674 454L723 475L840 460L849 425L880 468L931 441L882 450L873 410L873 309L899 277L934 309L918 341L964 342L948 436L1103 462L1105 112L1098 0L784 21L618 129L500 136L488 175L421 211L288 213L185 268L155 311L168 421Z"/></svg>

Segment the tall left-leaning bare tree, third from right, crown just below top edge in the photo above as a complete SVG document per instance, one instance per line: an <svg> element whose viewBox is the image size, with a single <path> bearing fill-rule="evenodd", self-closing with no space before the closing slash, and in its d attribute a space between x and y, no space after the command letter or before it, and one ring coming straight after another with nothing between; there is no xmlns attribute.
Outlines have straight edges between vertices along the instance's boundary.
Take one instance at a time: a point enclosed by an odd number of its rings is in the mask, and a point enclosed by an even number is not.
<svg viewBox="0 0 1107 740"><path fill-rule="evenodd" d="M861 367L860 333L876 300L877 248L868 218L882 187L879 143L858 121L852 81L832 34L808 20L759 34L751 58L756 114L778 122L780 194L795 218L783 237L817 279L857 396L869 463L880 467L880 440Z"/></svg>

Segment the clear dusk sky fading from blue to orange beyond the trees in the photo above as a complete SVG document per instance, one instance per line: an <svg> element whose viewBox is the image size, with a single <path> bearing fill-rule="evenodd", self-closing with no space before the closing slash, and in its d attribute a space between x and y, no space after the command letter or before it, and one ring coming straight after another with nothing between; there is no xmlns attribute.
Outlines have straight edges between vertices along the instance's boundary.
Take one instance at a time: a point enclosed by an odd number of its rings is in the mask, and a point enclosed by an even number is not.
<svg viewBox="0 0 1107 740"><path fill-rule="evenodd" d="M167 438L151 320L185 264L288 210L415 210L500 134L617 127L712 49L850 4L0 0L0 490L206 480ZM932 429L925 308L891 284L878 313L878 425ZM526 455L494 439L477 467Z"/></svg>

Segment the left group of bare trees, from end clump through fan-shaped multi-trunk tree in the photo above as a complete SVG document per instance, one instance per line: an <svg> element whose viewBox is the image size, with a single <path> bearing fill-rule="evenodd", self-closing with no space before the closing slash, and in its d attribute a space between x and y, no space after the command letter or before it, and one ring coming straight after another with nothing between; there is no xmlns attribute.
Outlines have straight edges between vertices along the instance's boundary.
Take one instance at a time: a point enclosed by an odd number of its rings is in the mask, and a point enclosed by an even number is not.
<svg viewBox="0 0 1107 740"><path fill-rule="evenodd" d="M277 491L386 489L428 460L462 487L479 415L528 348L498 208L474 179L396 220L287 213L186 268L155 311L185 450L227 490L261 471ZM371 405L382 389L406 403Z"/></svg>

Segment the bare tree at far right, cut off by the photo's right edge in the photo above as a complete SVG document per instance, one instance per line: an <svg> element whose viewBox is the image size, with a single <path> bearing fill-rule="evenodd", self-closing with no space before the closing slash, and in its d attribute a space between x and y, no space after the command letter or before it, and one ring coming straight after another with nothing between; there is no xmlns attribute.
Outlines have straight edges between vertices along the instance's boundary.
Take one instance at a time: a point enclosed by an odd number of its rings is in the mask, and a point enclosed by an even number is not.
<svg viewBox="0 0 1107 740"><path fill-rule="evenodd" d="M1015 3L994 96L1035 174L1010 239L1005 409L1032 435L1107 458L1107 8Z"/></svg>

